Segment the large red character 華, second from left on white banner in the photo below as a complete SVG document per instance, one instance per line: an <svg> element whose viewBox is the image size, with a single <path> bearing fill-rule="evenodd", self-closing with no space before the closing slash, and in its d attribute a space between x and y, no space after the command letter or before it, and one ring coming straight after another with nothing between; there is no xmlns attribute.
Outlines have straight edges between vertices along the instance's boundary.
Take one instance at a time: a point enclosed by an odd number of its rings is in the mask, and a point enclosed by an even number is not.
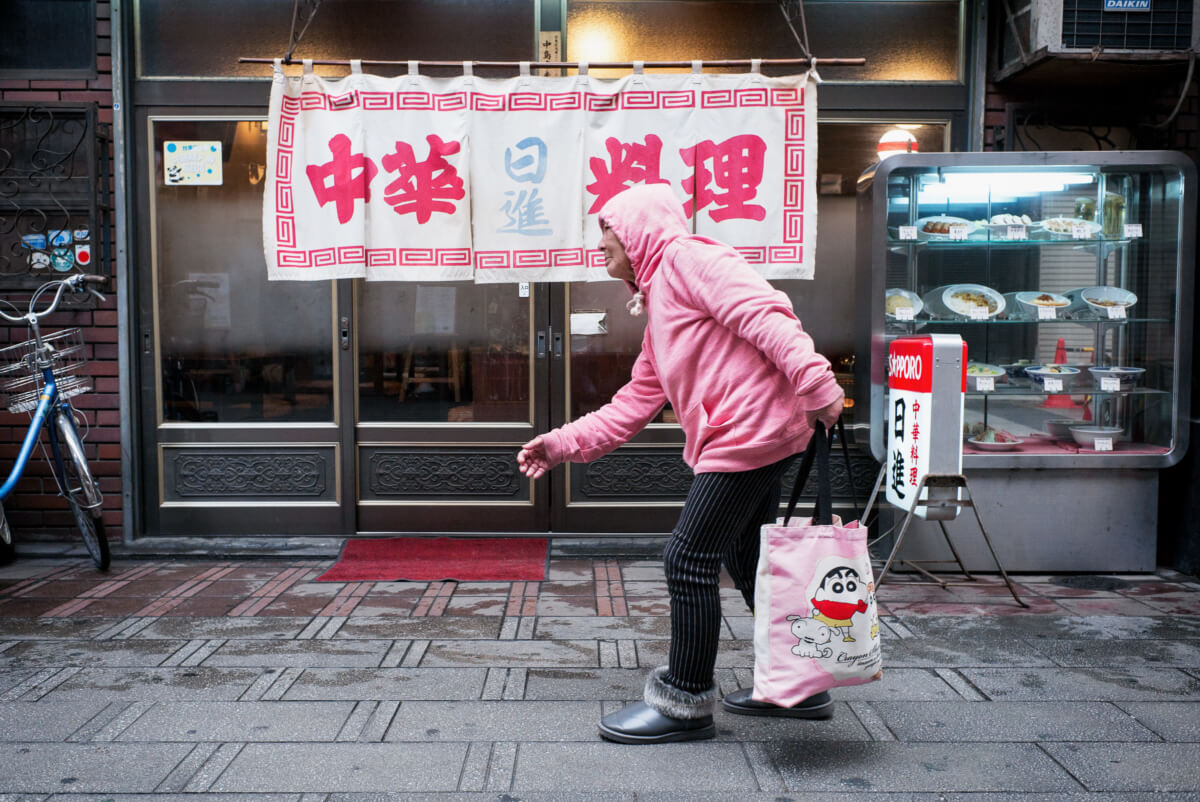
<svg viewBox="0 0 1200 802"><path fill-rule="evenodd" d="M415 214L419 223L428 222L434 211L452 215L456 209L451 200L467 194L458 170L445 160L458 152L458 143L443 142L433 133L425 140L430 143L430 156L422 162L416 161L407 142L397 142L396 151L380 160L388 172L397 174L384 188L383 199L397 215Z"/></svg>

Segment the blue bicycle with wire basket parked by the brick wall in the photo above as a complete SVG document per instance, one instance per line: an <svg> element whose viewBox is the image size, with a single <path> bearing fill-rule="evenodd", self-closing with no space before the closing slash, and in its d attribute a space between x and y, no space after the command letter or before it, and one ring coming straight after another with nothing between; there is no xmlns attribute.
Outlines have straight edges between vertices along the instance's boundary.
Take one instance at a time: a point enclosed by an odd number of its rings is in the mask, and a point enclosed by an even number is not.
<svg viewBox="0 0 1200 802"><path fill-rule="evenodd" d="M29 311L8 315L0 310L0 317L12 323L24 323L32 333L32 339L17 345L0 348L0 390L7 391L8 411L30 413L29 430L22 442L17 461L0 485L0 502L12 493L20 480L34 447L41 444L42 456L50 463L54 480L59 485L59 495L67 501L76 526L83 535L88 553L100 570L108 570L110 561L108 538L104 534L104 522L101 520L101 505L104 497L100 483L88 467L83 450L83 438L76 425L77 419L86 418L78 413L71 399L91 389L91 378L86 375L86 353L83 333L78 328L62 329L53 334L42 334L40 319L53 313L62 300L62 294L71 291L78 294L91 293L101 300L104 297L94 286L104 286L108 279L86 274L76 274L67 279L48 281L38 287L29 300ZM36 311L42 297L53 291L54 298L41 312ZM19 309L4 301L10 307ZM42 443L42 430L48 431L50 454ZM0 505L0 547L11 558L13 555L12 529L4 508Z"/></svg>

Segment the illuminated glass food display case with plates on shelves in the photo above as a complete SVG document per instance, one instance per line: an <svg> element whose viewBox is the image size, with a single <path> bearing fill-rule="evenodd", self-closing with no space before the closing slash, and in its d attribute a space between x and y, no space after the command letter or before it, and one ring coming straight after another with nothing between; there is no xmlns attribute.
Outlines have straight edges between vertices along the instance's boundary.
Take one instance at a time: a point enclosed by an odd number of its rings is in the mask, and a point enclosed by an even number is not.
<svg viewBox="0 0 1200 802"><path fill-rule="evenodd" d="M1195 175L1174 151L971 152L859 179L871 453L888 342L961 335L964 469L1010 570L1154 568L1158 469L1188 445Z"/></svg>

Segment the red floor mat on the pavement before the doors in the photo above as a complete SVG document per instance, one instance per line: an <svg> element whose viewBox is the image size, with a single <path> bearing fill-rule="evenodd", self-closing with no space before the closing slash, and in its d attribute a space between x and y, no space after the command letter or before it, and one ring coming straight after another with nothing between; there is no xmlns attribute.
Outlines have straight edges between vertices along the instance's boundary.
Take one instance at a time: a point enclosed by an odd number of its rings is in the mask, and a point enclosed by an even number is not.
<svg viewBox="0 0 1200 802"><path fill-rule="evenodd" d="M318 582L540 582L546 538L354 538Z"/></svg>

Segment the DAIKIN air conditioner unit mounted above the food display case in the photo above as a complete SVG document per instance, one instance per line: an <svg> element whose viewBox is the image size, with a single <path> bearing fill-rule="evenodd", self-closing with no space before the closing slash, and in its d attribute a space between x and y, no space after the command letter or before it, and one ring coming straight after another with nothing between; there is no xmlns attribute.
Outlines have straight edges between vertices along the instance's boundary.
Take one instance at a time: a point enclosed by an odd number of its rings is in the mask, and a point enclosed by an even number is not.
<svg viewBox="0 0 1200 802"><path fill-rule="evenodd" d="M1200 0L1007 0L1000 71L1045 55L1146 55L1200 48Z"/></svg>

